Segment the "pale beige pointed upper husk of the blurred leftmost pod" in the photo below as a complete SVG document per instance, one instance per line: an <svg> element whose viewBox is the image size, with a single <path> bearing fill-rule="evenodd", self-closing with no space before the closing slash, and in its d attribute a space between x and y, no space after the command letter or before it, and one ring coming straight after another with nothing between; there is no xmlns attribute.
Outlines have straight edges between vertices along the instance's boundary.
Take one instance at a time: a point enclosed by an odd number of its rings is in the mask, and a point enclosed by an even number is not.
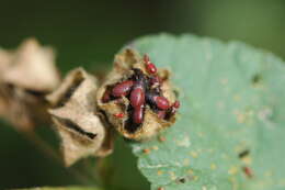
<svg viewBox="0 0 285 190"><path fill-rule="evenodd" d="M4 82L34 91L49 92L60 82L53 49L34 38L21 44L2 75Z"/></svg>

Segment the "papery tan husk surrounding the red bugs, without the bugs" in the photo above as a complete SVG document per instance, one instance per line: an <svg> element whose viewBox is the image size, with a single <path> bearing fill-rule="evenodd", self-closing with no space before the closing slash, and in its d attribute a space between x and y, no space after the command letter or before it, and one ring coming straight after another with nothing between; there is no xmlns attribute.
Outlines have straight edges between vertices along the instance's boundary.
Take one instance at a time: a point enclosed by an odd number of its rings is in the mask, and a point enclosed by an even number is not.
<svg viewBox="0 0 285 190"><path fill-rule="evenodd" d="M109 122L124 137L136 141L146 141L158 134L163 128L171 126L175 122L175 115L171 115L168 120L160 119L158 118L158 114L147 105L142 124L135 132L130 132L126 128L129 100L123 97L123 99L112 100L106 103L102 101L105 90L109 87L129 78L134 74L134 68L139 68L145 75L149 76L146 71L142 57L136 51L124 49L121 54L116 55L113 70L109 74L105 81L98 90L96 103L100 110L106 115ZM169 81L170 71L167 69L158 69L158 76L162 79L162 94L170 103L173 103L175 101L175 94L171 82ZM119 119L115 116L116 113L124 113L125 116Z"/></svg>

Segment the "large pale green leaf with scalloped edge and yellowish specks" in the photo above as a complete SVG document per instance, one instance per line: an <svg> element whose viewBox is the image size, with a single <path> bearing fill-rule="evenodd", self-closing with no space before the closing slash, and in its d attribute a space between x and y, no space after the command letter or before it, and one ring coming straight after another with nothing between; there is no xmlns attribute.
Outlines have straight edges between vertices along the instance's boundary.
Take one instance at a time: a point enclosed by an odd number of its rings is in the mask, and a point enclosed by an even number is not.
<svg viewBox="0 0 285 190"><path fill-rule="evenodd" d="M164 142L132 144L151 189L285 189L285 65L278 57L193 35L142 37L134 47L172 71L182 104Z"/></svg>

